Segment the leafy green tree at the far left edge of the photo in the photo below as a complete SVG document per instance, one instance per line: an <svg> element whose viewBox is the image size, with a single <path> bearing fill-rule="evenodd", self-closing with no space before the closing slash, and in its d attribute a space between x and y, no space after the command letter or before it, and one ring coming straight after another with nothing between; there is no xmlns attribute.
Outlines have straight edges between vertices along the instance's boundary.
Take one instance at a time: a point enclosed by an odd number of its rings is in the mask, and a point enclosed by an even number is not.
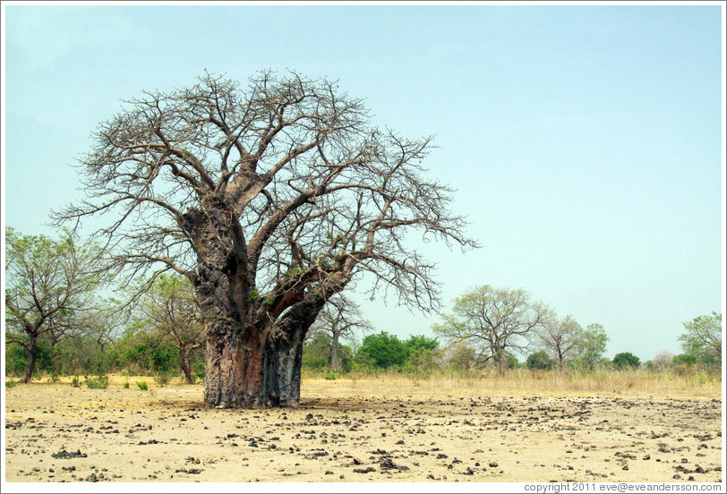
<svg viewBox="0 0 727 494"><path fill-rule="evenodd" d="M32 379L38 341L57 345L90 310L104 280L97 271L100 256L96 246L70 234L54 240L5 230L5 340L27 352L23 382Z"/></svg>

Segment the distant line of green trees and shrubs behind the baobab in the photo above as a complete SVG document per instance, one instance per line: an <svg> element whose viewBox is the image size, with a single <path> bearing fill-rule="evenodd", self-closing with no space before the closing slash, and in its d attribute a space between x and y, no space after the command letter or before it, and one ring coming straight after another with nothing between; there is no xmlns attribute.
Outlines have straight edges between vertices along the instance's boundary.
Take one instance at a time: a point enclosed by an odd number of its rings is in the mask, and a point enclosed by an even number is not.
<svg viewBox="0 0 727 494"><path fill-rule="evenodd" d="M127 371L204 377L204 324L192 285L180 275L159 275L140 286L112 287L110 274L94 269L100 249L71 234L58 239L5 231L5 373L30 382L51 375ZM100 296L113 289L120 302ZM138 294L136 297L124 294ZM399 339L374 333L360 308L344 294L331 297L309 331L303 349L306 371L327 375L350 371L431 372L482 370L503 374L597 368L652 371L719 370L722 314L684 323L683 353L659 353L640 362L629 352L612 360L598 323L583 328L558 316L523 289L484 285L455 300L434 325L436 337ZM360 341L357 337L363 336ZM518 362L517 356L524 358Z"/></svg>

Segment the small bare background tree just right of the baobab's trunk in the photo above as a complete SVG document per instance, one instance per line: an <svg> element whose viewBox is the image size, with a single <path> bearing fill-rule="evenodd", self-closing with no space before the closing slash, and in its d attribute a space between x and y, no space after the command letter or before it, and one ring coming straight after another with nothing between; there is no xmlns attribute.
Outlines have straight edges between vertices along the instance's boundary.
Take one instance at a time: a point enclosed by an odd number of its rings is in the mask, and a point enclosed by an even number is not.
<svg viewBox="0 0 727 494"><path fill-rule="evenodd" d="M352 341L357 331L365 334L370 330L372 326L363 319L358 304L344 294L336 294L318 314L306 338L315 338L319 344L329 342L330 370L338 372L341 370L341 339ZM328 340L319 338L319 334L329 336Z"/></svg>

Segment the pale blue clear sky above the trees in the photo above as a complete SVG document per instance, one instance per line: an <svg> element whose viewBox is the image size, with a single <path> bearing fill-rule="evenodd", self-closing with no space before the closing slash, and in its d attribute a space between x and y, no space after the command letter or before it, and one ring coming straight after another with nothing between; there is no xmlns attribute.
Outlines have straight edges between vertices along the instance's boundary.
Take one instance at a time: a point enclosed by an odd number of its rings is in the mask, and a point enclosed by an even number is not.
<svg viewBox="0 0 727 494"><path fill-rule="evenodd" d="M445 309L522 287L642 361L723 311L716 4L3 6L4 221L25 234L54 234L48 212L81 197L73 159L120 99L289 68L436 134L431 175L483 244L422 246ZM359 300L402 338L438 321Z"/></svg>

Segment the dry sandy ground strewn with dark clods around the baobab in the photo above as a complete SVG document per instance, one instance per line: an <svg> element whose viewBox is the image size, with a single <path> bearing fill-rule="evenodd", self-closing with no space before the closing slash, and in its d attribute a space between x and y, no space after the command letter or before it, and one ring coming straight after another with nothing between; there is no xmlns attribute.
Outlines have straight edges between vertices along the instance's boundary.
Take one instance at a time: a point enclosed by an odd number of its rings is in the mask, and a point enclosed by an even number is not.
<svg viewBox="0 0 727 494"><path fill-rule="evenodd" d="M304 381L296 409L201 386L5 391L12 481L721 481L721 399L474 396ZM149 380L149 379L148 379ZM150 382L150 384L153 381Z"/></svg>

